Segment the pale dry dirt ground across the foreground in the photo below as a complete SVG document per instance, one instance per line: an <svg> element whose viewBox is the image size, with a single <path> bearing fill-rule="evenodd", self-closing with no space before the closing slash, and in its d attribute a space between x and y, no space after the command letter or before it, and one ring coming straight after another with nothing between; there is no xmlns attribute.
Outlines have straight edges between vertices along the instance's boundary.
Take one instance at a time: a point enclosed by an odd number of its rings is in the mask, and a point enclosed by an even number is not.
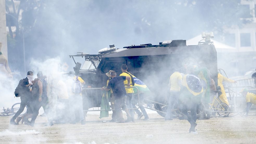
<svg viewBox="0 0 256 144"><path fill-rule="evenodd" d="M256 116L198 120L198 134L188 133L188 121L164 121L154 111L149 112L149 121L136 120L135 123L103 123L103 120L110 120L111 115L109 118L98 117L98 112L88 112L85 125L68 123L51 127L44 126L47 118L41 116L34 127L9 125L11 117L0 117L0 143L256 143Z"/></svg>

